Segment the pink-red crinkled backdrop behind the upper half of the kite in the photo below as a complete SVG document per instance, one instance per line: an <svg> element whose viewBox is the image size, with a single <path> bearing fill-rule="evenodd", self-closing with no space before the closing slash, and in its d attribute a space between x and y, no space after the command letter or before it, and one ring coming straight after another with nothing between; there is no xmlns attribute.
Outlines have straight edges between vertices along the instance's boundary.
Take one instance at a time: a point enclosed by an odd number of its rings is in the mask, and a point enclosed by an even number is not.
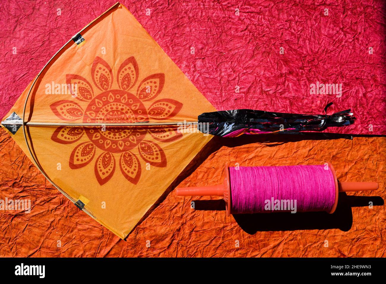
<svg viewBox="0 0 386 284"><path fill-rule="evenodd" d="M114 3L3 1L0 117L51 56ZM386 134L383 2L121 3L218 110L322 114L332 101L329 114L352 109L357 121L328 132ZM317 81L341 83L342 97L310 95Z"/></svg>

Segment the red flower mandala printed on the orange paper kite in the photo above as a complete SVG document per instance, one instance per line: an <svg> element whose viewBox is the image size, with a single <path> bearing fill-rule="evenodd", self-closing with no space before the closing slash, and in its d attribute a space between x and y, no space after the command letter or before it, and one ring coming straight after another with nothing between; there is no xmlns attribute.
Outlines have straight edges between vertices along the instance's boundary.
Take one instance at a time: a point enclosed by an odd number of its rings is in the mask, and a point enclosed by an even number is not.
<svg viewBox="0 0 386 284"><path fill-rule="evenodd" d="M91 65L91 80L75 74L66 75L67 84L77 84L75 100L88 102L87 107L83 109L73 100L59 100L50 107L63 121L81 120L83 123L146 122L149 119L165 120L178 114L183 104L177 100L161 99L152 102L164 87L163 73L149 75L135 87L138 78L139 67L134 56L131 56L122 62L117 71L115 86L118 88L112 88L112 68L97 56ZM96 89L99 90L97 93ZM143 104L146 101L151 102L148 109ZM59 126L51 139L60 144L71 144L87 137L88 141L73 148L69 157L71 169L83 168L97 156L94 172L100 185L112 179L117 163L125 179L137 184L142 168L139 157L154 167L167 165L163 149L156 141L145 139L147 134L149 138L162 143L182 137L175 126L154 126L151 129L143 126Z"/></svg>

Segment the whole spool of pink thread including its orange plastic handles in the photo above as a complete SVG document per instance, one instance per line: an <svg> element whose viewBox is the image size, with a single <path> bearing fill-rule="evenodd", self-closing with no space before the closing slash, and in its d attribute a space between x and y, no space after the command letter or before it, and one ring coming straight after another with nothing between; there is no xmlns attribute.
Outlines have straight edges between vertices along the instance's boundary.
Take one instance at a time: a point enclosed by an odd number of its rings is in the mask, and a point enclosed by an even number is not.
<svg viewBox="0 0 386 284"><path fill-rule="evenodd" d="M330 163L237 169L226 165L222 184L180 187L177 196L222 196L228 216L273 212L273 206L267 210L271 200L296 200L300 212L334 213L339 192L376 189L376 182L339 182Z"/></svg>

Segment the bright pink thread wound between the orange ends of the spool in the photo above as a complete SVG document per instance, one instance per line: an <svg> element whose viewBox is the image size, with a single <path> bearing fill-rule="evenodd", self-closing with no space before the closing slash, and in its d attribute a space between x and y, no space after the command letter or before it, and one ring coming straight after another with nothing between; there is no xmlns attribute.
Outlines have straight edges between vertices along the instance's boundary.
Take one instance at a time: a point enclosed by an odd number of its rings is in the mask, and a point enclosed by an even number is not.
<svg viewBox="0 0 386 284"><path fill-rule="evenodd" d="M270 212L266 200L296 200L296 211L329 212L335 204L335 180L325 167L230 167L231 213Z"/></svg>

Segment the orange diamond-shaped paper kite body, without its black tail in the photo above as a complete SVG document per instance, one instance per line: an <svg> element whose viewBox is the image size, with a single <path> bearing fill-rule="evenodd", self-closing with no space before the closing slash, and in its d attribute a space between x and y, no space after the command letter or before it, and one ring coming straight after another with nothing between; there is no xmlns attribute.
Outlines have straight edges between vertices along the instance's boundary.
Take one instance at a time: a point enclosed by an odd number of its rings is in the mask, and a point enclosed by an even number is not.
<svg viewBox="0 0 386 284"><path fill-rule="evenodd" d="M117 3L51 58L3 124L52 184L125 238L212 137L177 124L212 111Z"/></svg>

